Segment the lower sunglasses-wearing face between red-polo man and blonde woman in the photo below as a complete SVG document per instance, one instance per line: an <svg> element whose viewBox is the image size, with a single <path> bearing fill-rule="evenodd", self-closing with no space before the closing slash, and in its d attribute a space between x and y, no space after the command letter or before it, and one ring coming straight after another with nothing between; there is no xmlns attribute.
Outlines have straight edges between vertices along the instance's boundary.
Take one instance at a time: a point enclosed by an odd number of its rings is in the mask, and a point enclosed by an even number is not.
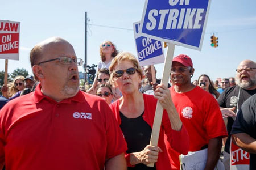
<svg viewBox="0 0 256 170"><path fill-rule="evenodd" d="M109 84L100 84L97 86L96 95L102 97L106 103L111 104L113 93Z"/></svg>

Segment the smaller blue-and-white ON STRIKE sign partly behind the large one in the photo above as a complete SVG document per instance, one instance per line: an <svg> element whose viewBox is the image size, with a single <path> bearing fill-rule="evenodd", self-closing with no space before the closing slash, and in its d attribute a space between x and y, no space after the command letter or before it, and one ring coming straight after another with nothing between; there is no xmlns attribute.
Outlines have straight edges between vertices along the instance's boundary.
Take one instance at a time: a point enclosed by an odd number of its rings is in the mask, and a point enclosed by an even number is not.
<svg viewBox="0 0 256 170"><path fill-rule="evenodd" d="M139 33L140 22L134 23L134 38L141 66L154 65L164 62L163 46L159 40L141 36Z"/></svg>

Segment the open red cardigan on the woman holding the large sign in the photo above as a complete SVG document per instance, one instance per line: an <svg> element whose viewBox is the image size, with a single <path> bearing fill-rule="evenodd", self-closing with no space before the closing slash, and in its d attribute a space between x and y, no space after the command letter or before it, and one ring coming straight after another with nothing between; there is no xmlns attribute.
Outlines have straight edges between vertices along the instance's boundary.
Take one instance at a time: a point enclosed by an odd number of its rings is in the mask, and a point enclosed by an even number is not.
<svg viewBox="0 0 256 170"><path fill-rule="evenodd" d="M144 114L142 118L152 128L154 124L157 99L155 99L155 97L152 95L143 94L143 100L144 100L145 109L144 109ZM114 103L110 104L110 109L112 109L112 112L114 113L115 118L117 119L120 125L121 118L119 114L119 100L116 100ZM180 131L172 130L168 114L166 110L164 110L162 125L160 128L159 140L158 140L158 146L163 150L163 152L159 152L158 162L156 162L156 169L158 170L172 169L170 160L168 159L166 145L164 143L164 135L166 136L166 140L168 141L169 145L172 146L172 148L174 148L176 151L179 151L183 154L188 153L189 139L188 139L187 130L185 129L184 126L182 126ZM129 164L130 154L125 154L125 157L126 157L127 165L131 166Z"/></svg>

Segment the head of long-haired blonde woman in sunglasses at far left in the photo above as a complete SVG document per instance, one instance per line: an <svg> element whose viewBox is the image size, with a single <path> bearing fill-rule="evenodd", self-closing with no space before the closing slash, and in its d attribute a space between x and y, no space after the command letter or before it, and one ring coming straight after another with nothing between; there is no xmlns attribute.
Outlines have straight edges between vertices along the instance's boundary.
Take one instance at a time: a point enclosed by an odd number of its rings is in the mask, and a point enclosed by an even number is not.
<svg viewBox="0 0 256 170"><path fill-rule="evenodd" d="M25 88L24 81L24 76L16 76L13 82L7 85L9 87L8 96L10 99L12 99L11 97L15 96L17 92L22 91Z"/></svg>

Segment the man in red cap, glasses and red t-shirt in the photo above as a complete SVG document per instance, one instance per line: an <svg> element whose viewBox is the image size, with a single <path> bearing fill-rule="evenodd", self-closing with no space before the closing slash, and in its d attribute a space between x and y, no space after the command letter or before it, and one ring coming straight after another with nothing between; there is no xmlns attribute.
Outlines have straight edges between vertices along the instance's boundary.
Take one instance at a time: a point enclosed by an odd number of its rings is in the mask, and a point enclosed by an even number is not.
<svg viewBox="0 0 256 170"><path fill-rule="evenodd" d="M204 169L214 169L220 158L221 140L227 136L226 128L216 99L191 83L194 71L192 60L187 55L181 54L173 59L171 96L181 121L188 130L189 151L207 148ZM171 151L170 155L171 162L179 169L179 153Z"/></svg>

